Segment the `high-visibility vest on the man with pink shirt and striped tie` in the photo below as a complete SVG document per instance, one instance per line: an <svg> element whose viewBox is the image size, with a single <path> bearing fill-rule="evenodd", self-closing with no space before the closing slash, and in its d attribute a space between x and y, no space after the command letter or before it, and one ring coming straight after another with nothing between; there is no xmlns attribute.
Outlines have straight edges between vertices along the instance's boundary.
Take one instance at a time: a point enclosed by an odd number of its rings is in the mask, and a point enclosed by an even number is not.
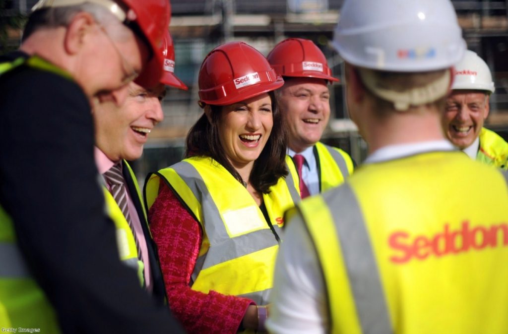
<svg viewBox="0 0 508 334"><path fill-rule="evenodd" d="M131 194L132 196L137 195L141 198L141 191L139 190L138 183L136 182L136 175L134 174L131 166L127 161L123 160L123 164L128 168L128 171L131 175L131 179L136 187L136 194ZM129 223L125 219L120 207L116 203L113 195L109 192L108 188L103 185L104 197L106 198L106 210L107 214L116 227L116 243L118 246L118 253L120 254L120 260L130 268L133 268L138 274L139 281L141 286L145 286L145 266L142 261L138 259L138 250L136 248L136 241L134 239L134 234L132 232ZM143 201L140 201L143 206ZM144 217L139 217L141 223L143 223L143 219L146 222L146 210L143 206Z"/></svg>

